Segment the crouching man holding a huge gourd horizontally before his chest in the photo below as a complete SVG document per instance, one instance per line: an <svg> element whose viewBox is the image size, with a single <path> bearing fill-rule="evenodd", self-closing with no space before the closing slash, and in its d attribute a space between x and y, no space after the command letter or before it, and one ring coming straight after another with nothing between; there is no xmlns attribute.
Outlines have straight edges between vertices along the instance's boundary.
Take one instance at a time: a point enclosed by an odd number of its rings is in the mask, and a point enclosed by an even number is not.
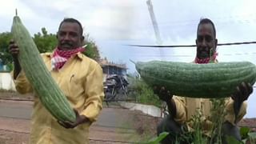
<svg viewBox="0 0 256 144"><path fill-rule="evenodd" d="M218 62L216 59L217 43L218 40L216 39L214 23L208 18L201 19L198 23L196 39L197 55L194 63L200 64L208 63L210 61ZM226 135L233 136L239 141L241 140L236 124L246 114L245 101L249 98L252 91L253 87L250 86L249 83L242 82L241 86L237 87L236 92L233 95L230 95L230 98L226 100L226 116L224 118L224 123L222 124L223 143L226 143L226 140L224 139L226 138ZM210 136L210 130L213 126L210 119L210 109L212 106L210 99L178 97L171 94L171 91L166 90L165 87L155 87L154 92L158 94L160 99L166 102L170 113L158 124L158 134L163 131L171 133L162 141L162 143L174 143L175 138L184 134L185 131L192 131L194 122L191 122L190 120L197 114L197 110L200 110L202 113L202 117L200 118L202 122L202 133ZM183 129L184 127L186 127L186 130Z"/></svg>

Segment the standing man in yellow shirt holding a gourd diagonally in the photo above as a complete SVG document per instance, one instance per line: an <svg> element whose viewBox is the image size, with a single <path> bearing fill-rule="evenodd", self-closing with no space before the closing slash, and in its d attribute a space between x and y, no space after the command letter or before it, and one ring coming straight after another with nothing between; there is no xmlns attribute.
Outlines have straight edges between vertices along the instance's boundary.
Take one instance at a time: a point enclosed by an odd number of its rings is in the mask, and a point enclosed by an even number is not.
<svg viewBox="0 0 256 144"><path fill-rule="evenodd" d="M58 28L58 46L54 52L42 54L51 76L58 83L76 113L76 122L58 122L34 94L34 110L30 130L31 144L86 144L89 126L102 110L102 68L81 52L82 25L74 18L65 18ZM18 46L10 42L14 58L13 78L21 94L33 93L33 88L18 62Z"/></svg>

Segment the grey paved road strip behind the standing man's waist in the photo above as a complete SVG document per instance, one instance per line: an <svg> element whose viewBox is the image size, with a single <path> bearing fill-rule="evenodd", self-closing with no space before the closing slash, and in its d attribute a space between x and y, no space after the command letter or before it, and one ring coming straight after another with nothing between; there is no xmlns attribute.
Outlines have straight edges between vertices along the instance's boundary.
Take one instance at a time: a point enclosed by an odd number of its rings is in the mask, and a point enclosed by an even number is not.
<svg viewBox="0 0 256 144"><path fill-rule="evenodd" d="M33 102L0 100L0 117L29 120L32 113L32 105ZM127 116L133 113L118 106L110 107L104 107L95 125L131 129L130 126L122 125L122 122L132 122L131 118L127 118Z"/></svg>

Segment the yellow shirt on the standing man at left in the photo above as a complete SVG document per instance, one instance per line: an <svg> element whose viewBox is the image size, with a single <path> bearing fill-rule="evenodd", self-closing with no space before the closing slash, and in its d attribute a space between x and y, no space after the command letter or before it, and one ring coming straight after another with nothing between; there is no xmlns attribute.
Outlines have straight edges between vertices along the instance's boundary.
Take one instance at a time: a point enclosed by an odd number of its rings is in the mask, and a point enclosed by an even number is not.
<svg viewBox="0 0 256 144"><path fill-rule="evenodd" d="M61 70L51 70L50 53L42 54L50 74L62 89L70 105L90 122L74 129L66 129L46 110L34 95L34 110L30 130L30 144L86 144L89 143L89 126L102 110L104 98L102 68L94 60L78 53L71 57ZM13 74L12 74L13 75ZM21 94L33 93L23 72L14 80Z"/></svg>

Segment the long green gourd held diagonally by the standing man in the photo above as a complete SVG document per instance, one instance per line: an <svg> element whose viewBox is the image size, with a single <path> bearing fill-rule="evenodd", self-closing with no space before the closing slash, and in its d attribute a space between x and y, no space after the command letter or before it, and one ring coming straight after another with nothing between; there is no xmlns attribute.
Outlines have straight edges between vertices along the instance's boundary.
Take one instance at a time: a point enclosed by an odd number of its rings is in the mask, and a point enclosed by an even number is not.
<svg viewBox="0 0 256 144"><path fill-rule="evenodd" d="M14 16L11 33L19 47L18 61L43 106L54 118L60 121L74 122L74 110L67 101L65 94L51 77L30 33L23 26L17 14Z"/></svg>

